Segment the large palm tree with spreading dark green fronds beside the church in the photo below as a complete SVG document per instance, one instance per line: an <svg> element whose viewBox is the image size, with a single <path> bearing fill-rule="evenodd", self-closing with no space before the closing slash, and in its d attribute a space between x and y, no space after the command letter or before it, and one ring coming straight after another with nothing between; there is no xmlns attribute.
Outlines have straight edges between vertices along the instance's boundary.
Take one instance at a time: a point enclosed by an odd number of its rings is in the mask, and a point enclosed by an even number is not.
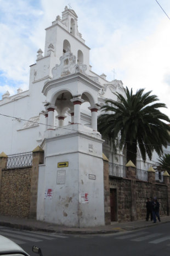
<svg viewBox="0 0 170 256"><path fill-rule="evenodd" d="M151 159L154 149L158 155L163 153L162 146L166 147L170 141L170 127L163 121L170 120L158 109L166 108L166 105L157 103L158 98L150 95L151 91L144 93L144 89L139 89L133 94L132 89L129 91L126 87L124 92L126 98L115 93L118 101L107 100L101 107L106 113L98 118L98 130L113 142L114 148L120 136L119 148L125 146L127 162L132 160L136 165L137 144L144 162L146 155Z"/></svg>

